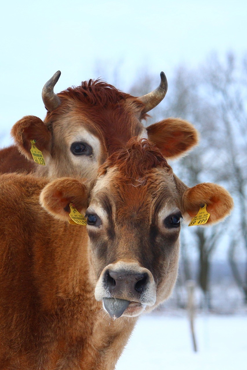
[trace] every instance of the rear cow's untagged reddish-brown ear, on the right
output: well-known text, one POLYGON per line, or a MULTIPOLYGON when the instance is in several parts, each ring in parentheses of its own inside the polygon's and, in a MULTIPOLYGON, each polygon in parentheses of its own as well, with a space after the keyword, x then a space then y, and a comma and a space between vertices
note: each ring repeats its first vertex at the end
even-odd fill
POLYGON ((148 138, 166 159, 181 157, 198 144, 194 126, 180 118, 167 118, 147 127, 148 138))

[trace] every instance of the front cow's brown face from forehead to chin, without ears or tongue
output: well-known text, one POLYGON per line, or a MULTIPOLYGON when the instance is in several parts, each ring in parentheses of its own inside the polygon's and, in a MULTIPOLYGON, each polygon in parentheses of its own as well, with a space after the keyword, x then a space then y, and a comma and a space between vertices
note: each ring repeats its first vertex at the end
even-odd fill
POLYGON ((138 176, 132 171, 123 176, 117 166, 108 169, 96 182, 86 211, 95 297, 131 302, 127 316, 164 301, 177 276, 180 199, 171 168, 160 163, 162 169, 138 176), (90 223, 93 216, 96 223, 90 223))

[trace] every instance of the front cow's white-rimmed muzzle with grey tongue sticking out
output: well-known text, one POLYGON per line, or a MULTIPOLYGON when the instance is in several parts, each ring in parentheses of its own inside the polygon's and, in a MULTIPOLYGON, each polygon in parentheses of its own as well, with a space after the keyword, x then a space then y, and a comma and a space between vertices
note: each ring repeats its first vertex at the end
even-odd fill
POLYGON ((152 273, 137 262, 112 263, 106 266, 95 287, 95 298, 115 319, 138 316, 156 301, 156 285, 152 273))

